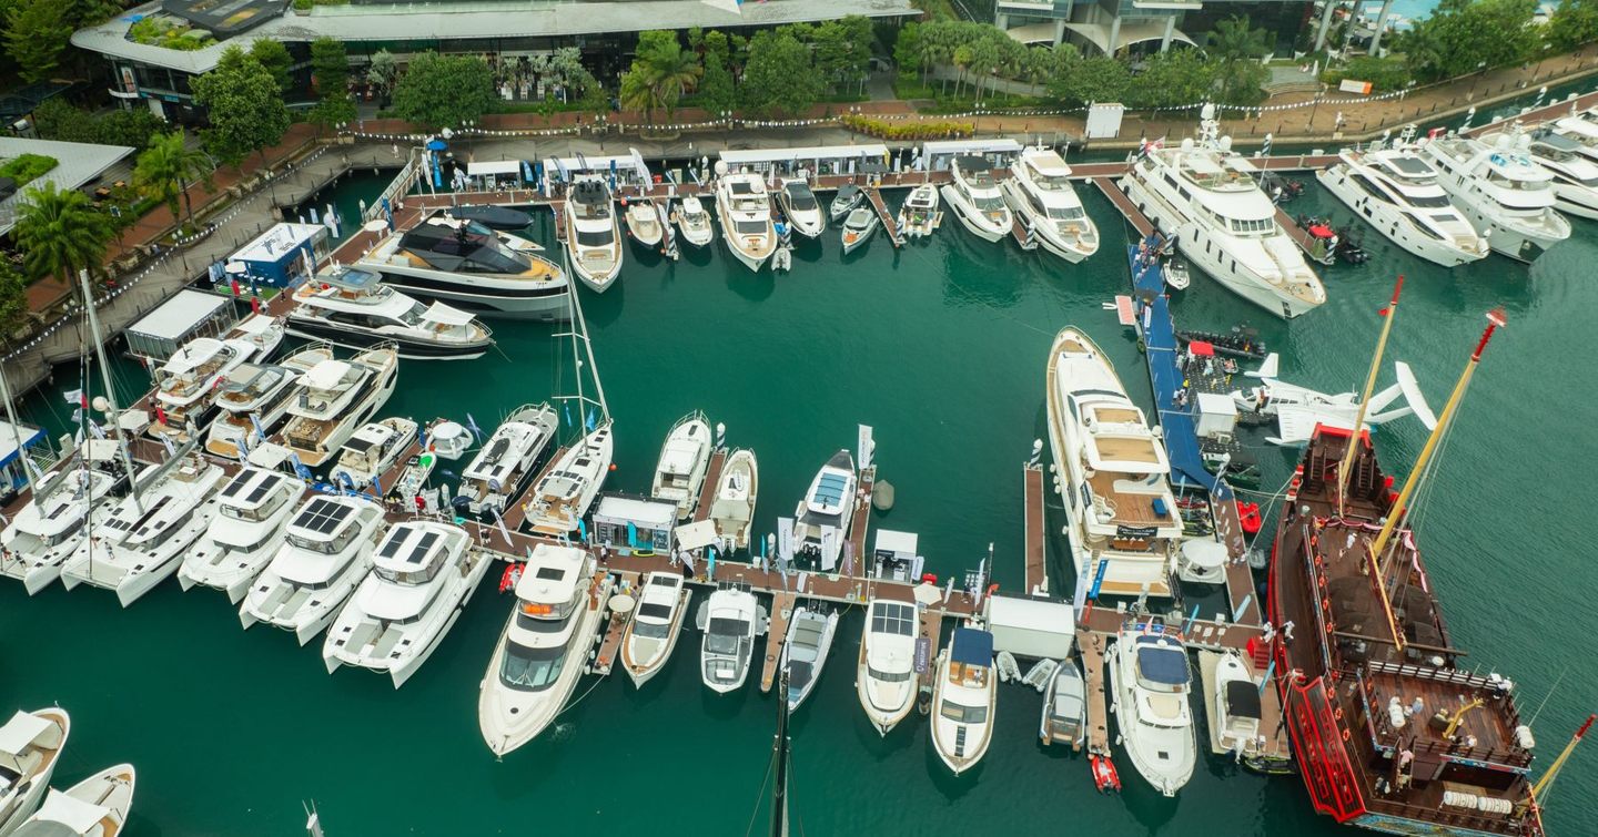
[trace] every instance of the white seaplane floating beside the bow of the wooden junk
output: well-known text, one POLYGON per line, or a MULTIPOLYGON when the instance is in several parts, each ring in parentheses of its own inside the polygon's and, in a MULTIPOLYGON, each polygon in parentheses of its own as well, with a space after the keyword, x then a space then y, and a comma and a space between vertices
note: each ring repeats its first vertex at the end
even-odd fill
MULTIPOLYGON (((1360 412, 1360 393, 1320 393, 1307 387, 1288 383, 1277 377, 1280 358, 1275 351, 1266 356, 1259 369, 1243 372, 1259 379, 1258 387, 1234 390, 1232 401, 1240 414, 1274 415, 1277 418, 1277 434, 1266 436, 1270 444, 1302 446, 1315 431, 1315 425, 1328 425, 1352 430, 1360 412)), ((1427 430, 1437 426, 1437 415, 1425 403, 1425 395, 1414 379, 1409 364, 1393 363, 1397 383, 1371 396, 1365 409, 1365 425, 1374 426, 1405 415, 1414 415, 1427 430), (1387 409, 1398 398, 1403 404, 1387 409)))

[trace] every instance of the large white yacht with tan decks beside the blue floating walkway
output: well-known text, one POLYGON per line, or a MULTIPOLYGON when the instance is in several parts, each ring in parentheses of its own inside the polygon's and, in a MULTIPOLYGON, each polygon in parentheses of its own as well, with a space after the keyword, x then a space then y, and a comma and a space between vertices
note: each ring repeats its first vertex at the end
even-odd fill
POLYGON ((1055 337, 1045 374, 1055 490, 1079 575, 1104 570, 1111 596, 1170 596, 1183 521, 1157 431, 1130 398, 1109 359, 1067 326, 1055 337))

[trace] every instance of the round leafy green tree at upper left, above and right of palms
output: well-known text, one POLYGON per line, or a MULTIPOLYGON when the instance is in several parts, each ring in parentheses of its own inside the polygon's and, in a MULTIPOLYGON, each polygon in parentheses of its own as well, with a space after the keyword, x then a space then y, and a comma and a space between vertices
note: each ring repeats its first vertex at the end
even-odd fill
MULTIPOLYGON (((259 42, 257 42, 259 43, 259 42)), ((217 158, 238 165, 249 152, 260 152, 283 139, 289 110, 272 72, 238 46, 229 46, 214 70, 195 78, 195 102, 209 109, 206 145, 217 158)))

